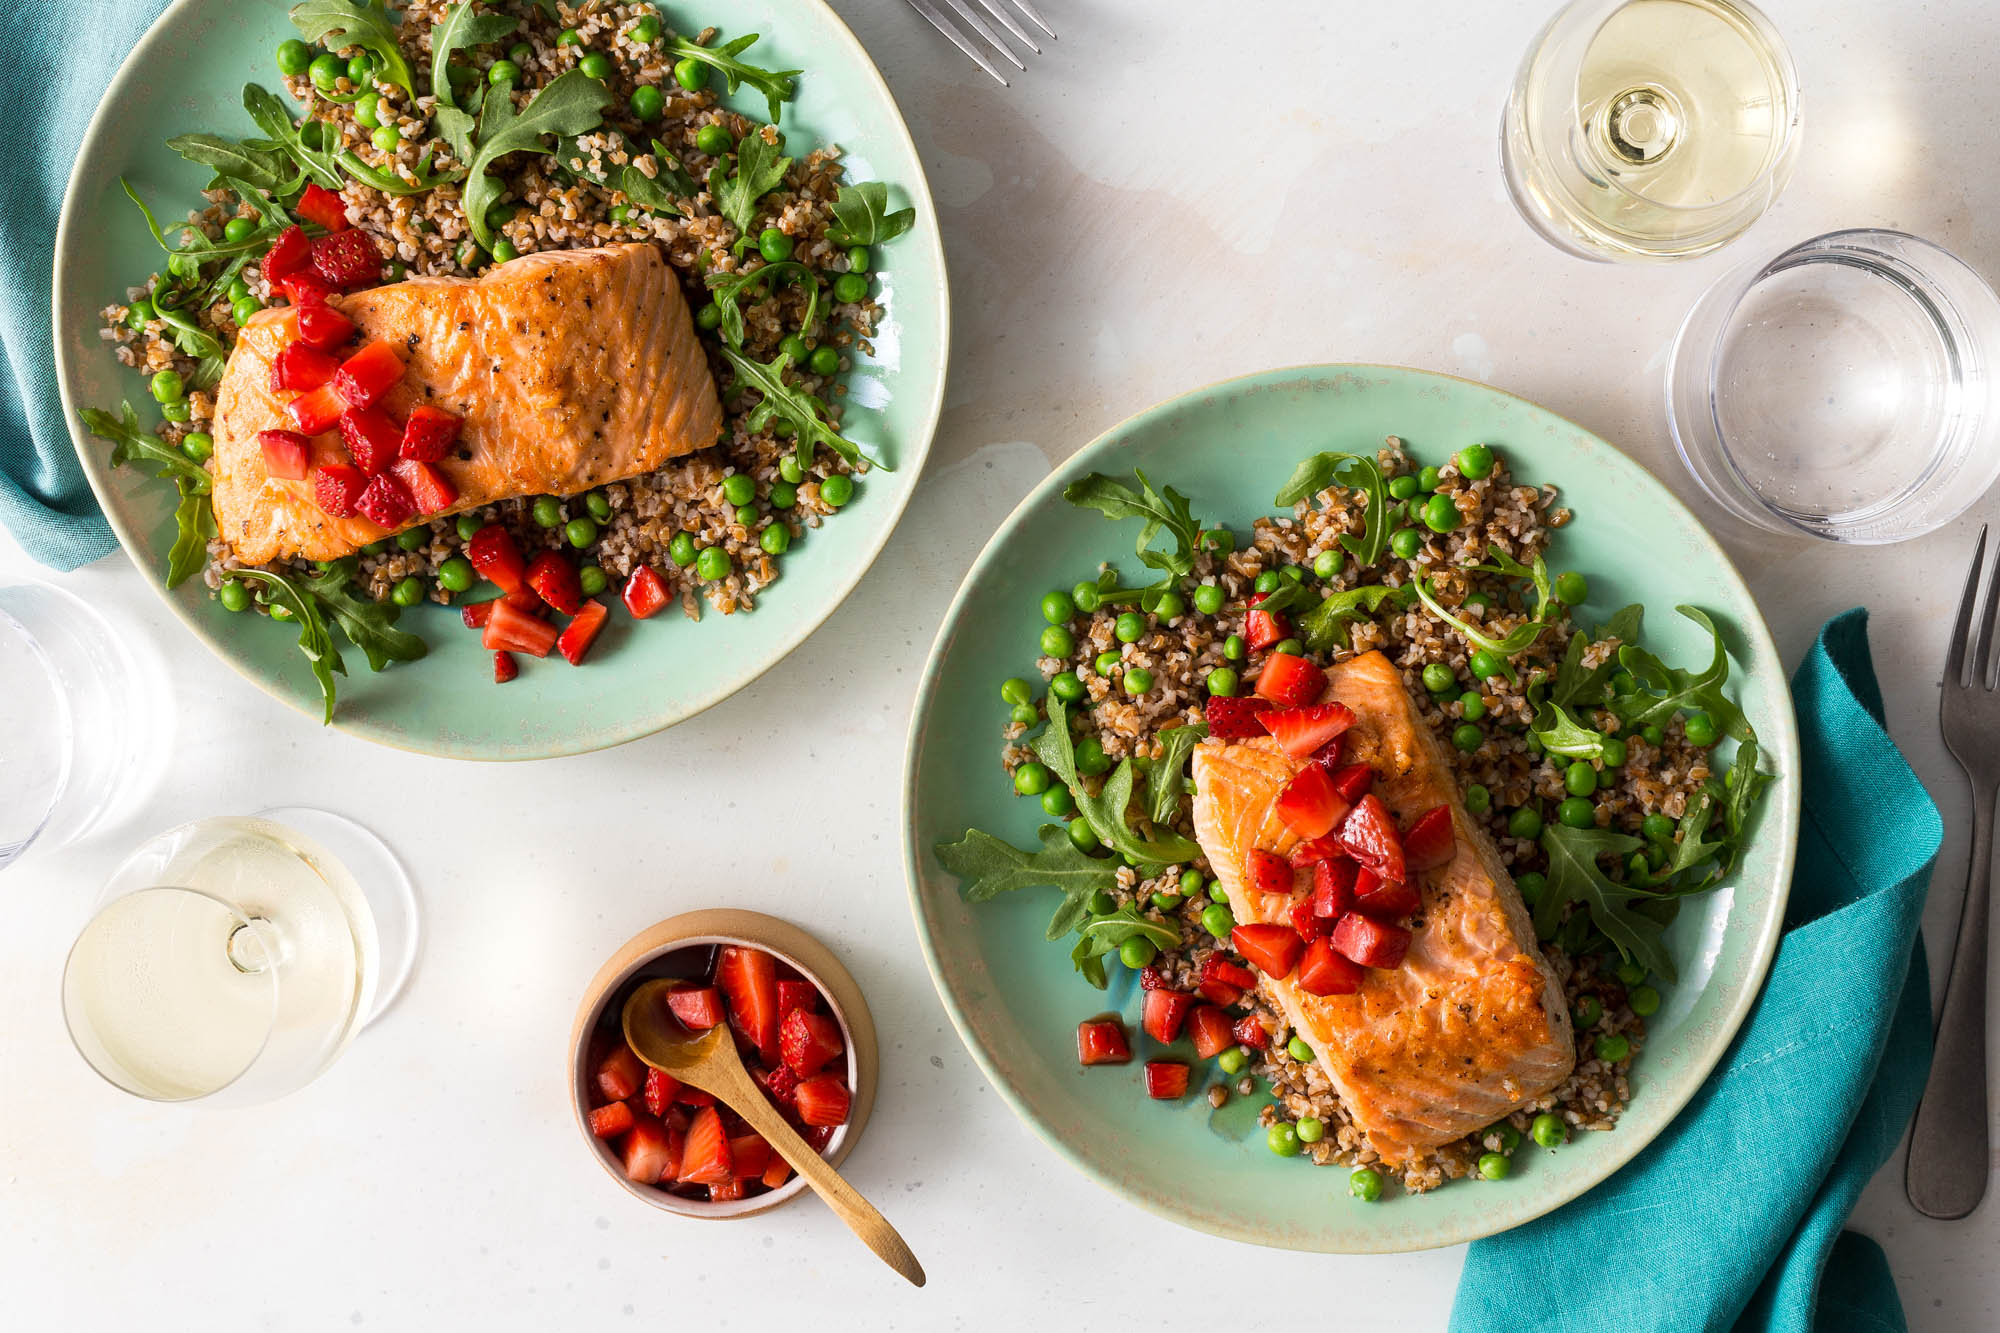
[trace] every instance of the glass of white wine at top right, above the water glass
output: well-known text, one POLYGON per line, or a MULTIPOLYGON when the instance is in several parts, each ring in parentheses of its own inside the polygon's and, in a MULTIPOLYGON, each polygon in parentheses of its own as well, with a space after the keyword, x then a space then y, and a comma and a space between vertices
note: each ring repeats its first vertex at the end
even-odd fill
POLYGON ((1598 260, 1708 254, 1778 196, 1798 76, 1740 0, 1576 0, 1528 50, 1500 158, 1522 216, 1598 260))

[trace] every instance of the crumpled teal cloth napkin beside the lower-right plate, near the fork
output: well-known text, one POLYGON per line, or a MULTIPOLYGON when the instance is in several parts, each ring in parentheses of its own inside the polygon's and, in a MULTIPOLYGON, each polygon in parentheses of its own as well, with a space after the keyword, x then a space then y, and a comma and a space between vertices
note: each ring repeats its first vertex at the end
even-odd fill
POLYGON ((1866 610, 1826 622, 1792 699, 1804 817, 1764 995, 1632 1165, 1472 1247, 1454 1333, 1906 1327, 1882 1249, 1842 1227, 1930 1071, 1918 923, 1942 825, 1882 729, 1866 610))

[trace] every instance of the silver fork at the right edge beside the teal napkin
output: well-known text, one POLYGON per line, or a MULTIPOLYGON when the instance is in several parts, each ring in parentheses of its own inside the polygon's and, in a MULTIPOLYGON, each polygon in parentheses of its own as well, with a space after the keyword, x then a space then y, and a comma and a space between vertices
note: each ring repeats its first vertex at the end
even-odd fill
POLYGON ((1938 723, 1944 749, 1972 781, 1972 865, 1958 917, 1952 977, 1932 1043, 1930 1081, 1910 1131, 1902 1187, 1924 1217, 1956 1219, 1986 1193, 1986 933, 1992 917, 1994 799, 2000 797, 2000 691, 1994 689, 1994 622, 2000 620, 2000 558, 1984 586, 1986 528, 1958 598, 1958 628, 1944 662, 1938 723), (1978 644, 1972 642, 1978 602, 1978 644))

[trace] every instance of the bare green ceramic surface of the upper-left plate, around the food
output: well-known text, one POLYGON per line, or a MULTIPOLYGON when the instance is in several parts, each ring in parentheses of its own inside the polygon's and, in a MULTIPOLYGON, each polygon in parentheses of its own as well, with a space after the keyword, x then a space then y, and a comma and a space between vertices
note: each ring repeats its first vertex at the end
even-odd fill
MULTIPOLYGON (((96 312, 124 300, 162 256, 124 176, 162 218, 180 216, 206 172, 164 146, 172 134, 212 130, 252 134, 242 86, 278 88, 272 50, 296 36, 286 0, 178 0, 132 50, 84 136, 62 228, 56 236, 56 368, 72 422, 82 406, 132 398, 152 412, 146 384, 98 340, 96 312)), ((700 713, 754 681, 798 646, 860 582, 902 514, 944 402, 950 346, 944 250, 938 216, 896 102, 854 34, 818 0, 732 0, 676 6, 686 20, 726 24, 728 34, 762 32, 754 56, 774 68, 802 68, 798 100, 784 126, 812 142, 838 142, 858 180, 888 180, 916 206, 916 226, 882 246, 878 292, 888 318, 876 354, 852 376, 854 434, 880 442, 896 470, 864 478, 852 504, 812 530, 784 562, 750 614, 678 614, 644 626, 612 616, 590 666, 530 664, 504 691, 488 689, 490 656, 458 614, 424 606, 404 626, 430 642, 412 666, 372 675, 346 652, 334 725, 368 741, 460 759, 542 759, 632 741, 700 713)), ((764 102, 732 98, 762 118, 764 102)), ((158 582, 172 544, 172 488, 106 466, 106 444, 72 426, 90 484, 124 548, 158 582)), ((314 723, 320 695, 296 634, 280 624, 232 616, 198 580, 164 592, 168 604, 210 648, 256 685, 298 707, 314 723)))

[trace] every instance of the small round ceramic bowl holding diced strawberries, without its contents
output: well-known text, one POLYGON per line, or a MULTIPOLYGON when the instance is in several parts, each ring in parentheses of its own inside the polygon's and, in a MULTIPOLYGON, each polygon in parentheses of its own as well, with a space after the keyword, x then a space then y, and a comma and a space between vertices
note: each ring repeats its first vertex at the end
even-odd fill
POLYGON ((840 1035, 846 1041, 846 1075, 848 1087, 854 1091, 848 1123, 834 1131, 824 1153, 828 1163, 840 1165, 868 1123, 868 1113, 874 1109, 876 1075, 880 1069, 874 1019, 868 1017, 868 1003, 862 999, 860 987, 854 985, 854 977, 848 975, 848 969, 840 965, 840 959, 826 945, 796 925, 762 913, 708 909, 672 917, 628 939, 598 969, 598 975, 584 989, 584 1003, 576 1009, 576 1025, 570 1029, 570 1107, 576 1113, 576 1129, 584 1135, 584 1143, 590 1145, 590 1153, 634 1199, 668 1213, 680 1213, 682 1217, 750 1217, 752 1213, 766 1213, 792 1201, 800 1191, 808 1189, 804 1177, 794 1173, 778 1189, 726 1203, 686 1199, 666 1189, 626 1179, 624 1161, 610 1143, 590 1133, 588 1123, 590 1081, 596 1075, 592 1049, 598 1045, 600 1033, 616 1037, 624 999, 632 983, 664 975, 656 965, 668 955, 710 949, 714 945, 762 949, 792 967, 826 997, 826 1007, 834 1021, 840 1023, 840 1035))

